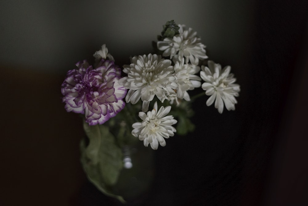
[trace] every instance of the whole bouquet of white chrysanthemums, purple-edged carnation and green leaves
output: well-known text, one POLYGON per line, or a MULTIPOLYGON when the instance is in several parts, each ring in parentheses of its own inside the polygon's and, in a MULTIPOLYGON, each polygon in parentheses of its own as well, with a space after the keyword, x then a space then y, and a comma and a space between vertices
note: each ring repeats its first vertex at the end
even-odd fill
MULTIPOLYGON (((192 28, 168 21, 153 49, 151 54, 132 57, 122 69, 104 44, 92 61, 80 61, 68 71, 61 87, 66 111, 79 113, 83 119, 87 137, 80 149, 87 178, 122 202, 136 195, 123 195, 123 190, 130 189, 121 186, 124 173, 138 165, 133 156, 145 158, 141 153, 145 150, 152 157, 150 150, 165 146, 165 139, 192 132, 194 99, 208 95, 206 105, 214 103, 222 113, 224 107, 235 109, 240 91, 230 66, 222 69, 213 61, 203 65, 208 58, 205 45, 192 28), (200 87, 200 94, 190 97, 188 92, 200 87), (141 144, 143 149, 136 151, 138 140, 145 147, 141 144)), ((148 176, 141 175, 141 182, 152 174, 151 167, 144 168, 149 171, 139 172, 148 176)), ((138 192, 147 187, 136 185, 138 192)))

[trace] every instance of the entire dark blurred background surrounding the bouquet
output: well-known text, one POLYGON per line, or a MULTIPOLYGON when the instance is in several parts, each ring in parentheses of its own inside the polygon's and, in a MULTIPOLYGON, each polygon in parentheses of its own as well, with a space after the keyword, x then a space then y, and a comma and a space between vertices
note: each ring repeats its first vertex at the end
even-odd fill
POLYGON ((223 114, 198 99, 195 132, 155 151, 151 191, 129 204, 308 204, 308 2, 2 0, 1 205, 117 204, 83 173, 60 86, 102 44, 118 65, 151 53, 172 19, 231 65, 240 97, 223 114))

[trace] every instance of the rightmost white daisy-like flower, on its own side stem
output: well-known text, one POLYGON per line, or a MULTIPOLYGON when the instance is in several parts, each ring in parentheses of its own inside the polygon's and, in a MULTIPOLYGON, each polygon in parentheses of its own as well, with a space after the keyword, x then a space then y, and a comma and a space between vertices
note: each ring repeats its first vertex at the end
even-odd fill
POLYGON ((231 67, 225 66, 221 70, 220 64, 215 64, 213 61, 208 61, 208 66, 201 66, 200 76, 205 81, 202 84, 202 89, 205 94, 209 95, 206 105, 210 106, 215 101, 215 108, 222 113, 224 103, 227 110, 235 110, 235 104, 240 91, 240 85, 235 84, 236 78, 230 74, 231 67))

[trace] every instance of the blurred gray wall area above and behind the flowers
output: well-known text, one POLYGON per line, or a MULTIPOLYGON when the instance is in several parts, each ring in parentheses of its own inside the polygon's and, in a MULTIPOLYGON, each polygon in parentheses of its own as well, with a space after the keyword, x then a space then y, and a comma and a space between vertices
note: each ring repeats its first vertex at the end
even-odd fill
POLYGON ((118 64, 152 52, 171 19, 192 27, 218 63, 240 64, 253 39, 253 1, 0 2, 0 64, 65 73, 102 44, 118 64))

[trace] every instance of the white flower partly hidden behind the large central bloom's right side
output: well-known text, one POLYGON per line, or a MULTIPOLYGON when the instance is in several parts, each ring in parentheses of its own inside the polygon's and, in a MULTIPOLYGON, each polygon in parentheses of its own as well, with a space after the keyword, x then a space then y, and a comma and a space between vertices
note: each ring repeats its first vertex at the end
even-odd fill
POLYGON ((195 74, 200 71, 199 66, 185 64, 183 61, 177 61, 174 65, 174 75, 177 78, 178 89, 176 90, 177 98, 190 101, 188 90, 193 90, 201 86, 201 78, 195 74))

